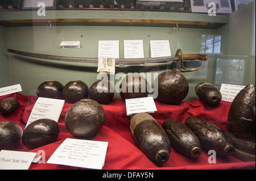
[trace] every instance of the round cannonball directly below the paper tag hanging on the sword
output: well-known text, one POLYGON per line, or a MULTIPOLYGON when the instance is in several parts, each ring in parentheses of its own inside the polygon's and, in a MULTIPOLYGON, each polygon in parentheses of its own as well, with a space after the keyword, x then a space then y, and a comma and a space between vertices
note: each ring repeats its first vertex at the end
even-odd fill
POLYGON ((114 98, 114 88, 108 81, 96 81, 90 86, 90 99, 100 104, 108 104, 114 98))

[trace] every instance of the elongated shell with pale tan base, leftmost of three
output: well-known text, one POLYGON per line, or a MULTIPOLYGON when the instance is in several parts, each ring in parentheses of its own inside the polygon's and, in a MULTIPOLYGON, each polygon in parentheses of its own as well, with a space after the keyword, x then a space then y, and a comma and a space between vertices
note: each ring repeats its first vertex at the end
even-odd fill
POLYGON ((154 163, 169 159, 171 145, 167 134, 148 113, 137 113, 130 120, 130 129, 138 148, 154 163))

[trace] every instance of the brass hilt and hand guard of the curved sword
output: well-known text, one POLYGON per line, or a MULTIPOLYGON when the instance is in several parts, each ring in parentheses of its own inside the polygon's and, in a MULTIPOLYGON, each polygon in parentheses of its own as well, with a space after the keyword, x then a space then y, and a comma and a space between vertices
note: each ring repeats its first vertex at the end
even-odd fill
POLYGON ((204 61, 206 61, 207 58, 208 58, 207 54, 183 54, 181 52, 181 49, 177 49, 175 56, 179 56, 180 57, 179 62, 176 62, 177 66, 179 66, 179 70, 174 68, 174 62, 175 61, 172 62, 171 66, 172 66, 173 70, 179 71, 179 72, 188 72, 188 71, 199 70, 199 69, 203 68, 204 61), (188 69, 183 64, 184 60, 201 60, 201 66, 199 66, 198 68, 188 69))

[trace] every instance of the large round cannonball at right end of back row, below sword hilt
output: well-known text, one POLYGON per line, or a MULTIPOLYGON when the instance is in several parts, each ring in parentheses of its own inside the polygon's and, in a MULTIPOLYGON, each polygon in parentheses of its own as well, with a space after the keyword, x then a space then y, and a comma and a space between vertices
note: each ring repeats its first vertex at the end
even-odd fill
POLYGON ((176 71, 165 71, 158 75, 158 100, 166 104, 179 105, 188 94, 188 81, 176 71))

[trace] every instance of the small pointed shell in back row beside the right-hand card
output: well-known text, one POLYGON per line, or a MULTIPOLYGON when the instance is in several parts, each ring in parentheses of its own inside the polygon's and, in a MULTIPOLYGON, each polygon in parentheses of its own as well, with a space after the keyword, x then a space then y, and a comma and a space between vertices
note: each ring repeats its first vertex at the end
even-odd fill
POLYGON ((218 88, 207 82, 199 83, 195 91, 199 99, 210 106, 217 106, 222 99, 221 92, 218 88))

